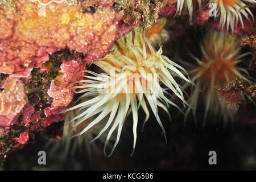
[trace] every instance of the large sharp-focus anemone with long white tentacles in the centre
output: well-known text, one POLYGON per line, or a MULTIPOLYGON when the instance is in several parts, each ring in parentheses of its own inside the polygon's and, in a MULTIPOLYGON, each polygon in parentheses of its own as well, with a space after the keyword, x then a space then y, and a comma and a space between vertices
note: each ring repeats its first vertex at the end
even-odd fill
POLYGON ((105 73, 98 74, 85 71, 88 73, 84 76, 85 80, 80 80, 81 85, 74 88, 80 89, 76 92, 81 94, 79 100, 82 98, 89 99, 67 110, 82 110, 69 121, 72 123, 72 129, 69 132, 71 138, 88 132, 94 125, 106 119, 106 125, 91 141, 93 142, 109 129, 104 146, 105 155, 108 141, 114 131, 117 131, 117 139, 109 156, 112 155, 129 113, 133 114, 134 152, 137 140, 138 109, 140 107, 146 113, 146 119, 144 119, 144 123, 146 123, 150 115, 147 104, 150 106, 166 138, 166 132, 158 115, 158 107, 162 107, 167 113, 168 105, 180 108, 165 94, 173 93, 183 101, 184 106, 188 105, 184 100, 181 86, 175 81, 176 78, 181 78, 181 80, 193 84, 188 75, 183 75, 186 73, 185 69, 162 55, 161 47, 156 51, 142 32, 144 30, 140 27, 133 29, 115 42, 113 50, 108 55, 92 62, 105 73), (79 133, 72 135, 77 126, 94 116, 95 119, 88 126, 79 133))

